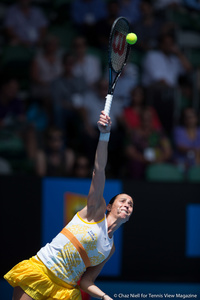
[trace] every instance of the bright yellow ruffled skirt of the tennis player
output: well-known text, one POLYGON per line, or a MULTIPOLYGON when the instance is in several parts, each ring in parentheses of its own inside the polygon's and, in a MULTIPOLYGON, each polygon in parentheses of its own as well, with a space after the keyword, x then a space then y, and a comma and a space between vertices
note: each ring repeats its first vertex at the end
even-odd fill
POLYGON ((35 257, 14 266, 4 278, 13 287, 20 286, 35 300, 81 300, 78 286, 73 287, 56 277, 35 257))

